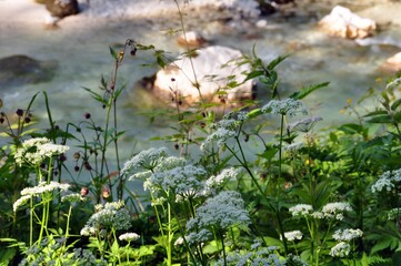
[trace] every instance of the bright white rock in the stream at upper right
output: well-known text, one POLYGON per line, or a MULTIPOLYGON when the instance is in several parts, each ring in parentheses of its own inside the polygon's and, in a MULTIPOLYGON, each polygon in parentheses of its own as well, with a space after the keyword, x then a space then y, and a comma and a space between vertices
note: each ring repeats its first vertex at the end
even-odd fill
POLYGON ((377 29, 373 20, 361 18, 341 6, 335 6, 330 14, 319 21, 319 25, 329 34, 347 39, 367 38, 377 29))

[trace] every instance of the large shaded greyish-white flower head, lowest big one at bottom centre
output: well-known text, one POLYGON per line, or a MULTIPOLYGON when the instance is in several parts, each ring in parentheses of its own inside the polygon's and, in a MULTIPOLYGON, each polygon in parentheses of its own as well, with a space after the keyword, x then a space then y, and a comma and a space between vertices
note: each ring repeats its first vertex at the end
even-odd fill
MULTIPOLYGON (((196 216, 187 222, 187 229, 202 228, 210 233, 210 228, 228 229, 234 225, 245 227, 249 223, 250 218, 241 194, 234 191, 223 191, 214 197, 208 198, 197 209, 196 216)), ((207 233, 203 232, 203 234, 207 233)))

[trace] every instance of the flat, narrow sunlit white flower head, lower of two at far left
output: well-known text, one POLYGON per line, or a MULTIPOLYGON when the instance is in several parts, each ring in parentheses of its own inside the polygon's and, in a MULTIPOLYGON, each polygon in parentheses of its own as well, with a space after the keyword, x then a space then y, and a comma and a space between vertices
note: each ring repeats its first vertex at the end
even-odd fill
POLYGON ((40 182, 39 185, 37 186, 23 188, 21 191, 21 197, 14 202, 12 208, 14 212, 17 212, 17 209, 21 205, 26 204, 29 200, 31 200, 34 196, 41 195, 43 193, 52 192, 56 190, 68 191, 68 188, 70 188, 70 184, 61 184, 54 181, 51 181, 49 184, 47 184, 46 182, 40 182))

